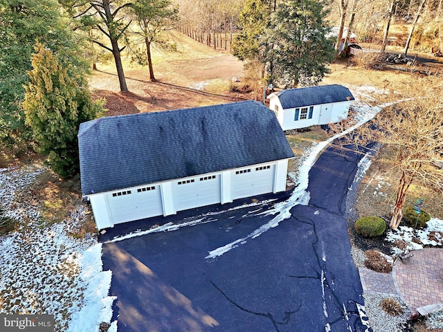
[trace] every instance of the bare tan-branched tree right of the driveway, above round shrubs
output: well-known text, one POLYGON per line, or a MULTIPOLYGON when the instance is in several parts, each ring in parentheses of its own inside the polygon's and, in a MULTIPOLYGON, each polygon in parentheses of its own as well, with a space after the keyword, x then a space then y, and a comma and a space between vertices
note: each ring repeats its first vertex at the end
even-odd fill
POLYGON ((356 147, 378 142, 383 158, 398 176, 390 228, 400 224, 411 184, 422 183, 443 192, 443 83, 425 77, 402 89, 403 101, 383 109, 348 136, 356 147))

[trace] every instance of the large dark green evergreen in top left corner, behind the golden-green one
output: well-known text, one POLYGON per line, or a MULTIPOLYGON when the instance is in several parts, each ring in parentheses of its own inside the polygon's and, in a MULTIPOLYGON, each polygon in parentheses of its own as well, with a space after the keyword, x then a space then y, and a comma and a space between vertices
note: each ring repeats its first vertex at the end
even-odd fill
POLYGON ((56 0, 0 0, 0 140, 10 145, 28 139, 19 104, 36 39, 51 46, 69 75, 82 76, 87 68, 81 42, 56 0))

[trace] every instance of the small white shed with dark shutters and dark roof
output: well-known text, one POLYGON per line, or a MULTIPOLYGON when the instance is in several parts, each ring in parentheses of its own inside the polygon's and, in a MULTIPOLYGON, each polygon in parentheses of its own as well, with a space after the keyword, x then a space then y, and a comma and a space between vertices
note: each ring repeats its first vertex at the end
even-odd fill
POLYGON ((345 86, 332 84, 278 91, 268 99, 282 129, 289 130, 345 120, 355 98, 345 86))

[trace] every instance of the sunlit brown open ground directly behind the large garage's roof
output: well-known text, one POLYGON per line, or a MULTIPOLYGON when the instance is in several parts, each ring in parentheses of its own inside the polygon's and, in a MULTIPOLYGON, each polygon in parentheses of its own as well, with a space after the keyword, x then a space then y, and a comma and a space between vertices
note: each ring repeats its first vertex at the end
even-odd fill
MULTIPOLYGON (((154 75, 149 79, 147 66, 125 62, 129 93, 120 92, 116 69, 112 64, 98 64, 89 85, 94 98, 106 98, 107 116, 183 109, 249 99, 248 95, 230 92, 242 76, 243 65, 226 52, 195 42, 177 33, 177 53, 155 52, 154 75), (223 91, 204 91, 212 81, 226 80, 223 91)), ((221 86, 221 84, 217 84, 221 86)))

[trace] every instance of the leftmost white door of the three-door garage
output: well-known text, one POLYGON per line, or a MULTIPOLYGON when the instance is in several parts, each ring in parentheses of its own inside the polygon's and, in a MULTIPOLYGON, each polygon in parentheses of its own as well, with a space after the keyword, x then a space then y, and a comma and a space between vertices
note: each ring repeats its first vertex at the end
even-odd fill
POLYGON ((114 223, 163 214, 159 185, 114 192, 109 194, 108 201, 114 223))

